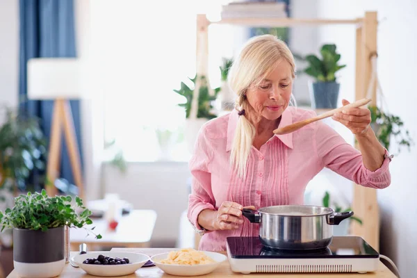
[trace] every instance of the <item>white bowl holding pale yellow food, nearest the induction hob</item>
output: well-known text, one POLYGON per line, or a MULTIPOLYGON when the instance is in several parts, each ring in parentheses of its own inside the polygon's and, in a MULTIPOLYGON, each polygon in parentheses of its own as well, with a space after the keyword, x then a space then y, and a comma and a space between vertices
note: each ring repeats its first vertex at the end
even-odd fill
POLYGON ((169 252, 154 255, 151 257, 151 261, 155 263, 158 268, 161 268, 165 273, 170 275, 177 276, 197 276, 197 275, 206 275, 210 272, 213 272, 220 263, 227 259, 227 256, 219 254, 216 252, 202 251, 204 254, 209 256, 215 261, 215 263, 207 263, 203 265, 170 265, 167 263, 161 263, 163 259, 168 258, 169 252))

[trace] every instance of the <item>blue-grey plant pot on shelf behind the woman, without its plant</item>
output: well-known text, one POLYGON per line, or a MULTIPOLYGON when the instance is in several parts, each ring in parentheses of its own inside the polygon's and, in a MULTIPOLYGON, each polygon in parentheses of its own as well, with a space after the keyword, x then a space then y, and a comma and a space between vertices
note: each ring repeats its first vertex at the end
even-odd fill
POLYGON ((313 109, 336 108, 340 87, 341 85, 336 82, 312 83, 310 95, 313 109))

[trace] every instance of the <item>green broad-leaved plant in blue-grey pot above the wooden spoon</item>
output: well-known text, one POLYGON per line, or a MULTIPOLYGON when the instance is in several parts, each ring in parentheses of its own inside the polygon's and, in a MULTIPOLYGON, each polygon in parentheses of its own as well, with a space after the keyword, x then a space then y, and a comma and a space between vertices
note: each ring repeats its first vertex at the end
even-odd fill
POLYGON ((340 84, 336 82, 336 72, 346 65, 340 65, 341 54, 336 52, 335 44, 324 44, 320 49, 322 59, 316 55, 307 55, 309 64, 304 70, 316 81, 310 85, 311 105, 313 108, 336 108, 340 84))

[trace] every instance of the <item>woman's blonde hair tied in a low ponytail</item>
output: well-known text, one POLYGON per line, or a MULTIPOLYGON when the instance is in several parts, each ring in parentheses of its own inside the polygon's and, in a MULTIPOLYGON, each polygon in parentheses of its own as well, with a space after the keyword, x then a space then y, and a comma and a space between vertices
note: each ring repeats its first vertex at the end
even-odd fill
MULTIPOLYGON (((248 111, 249 103, 245 95, 247 88, 250 85, 259 85, 282 59, 290 63, 295 78, 294 57, 285 42, 274 35, 259 35, 246 42, 234 59, 228 74, 229 87, 238 95, 235 104, 238 111, 248 111)), ((247 159, 255 133, 253 124, 245 115, 241 115, 230 154, 230 164, 237 170, 239 177, 246 173, 247 159)))

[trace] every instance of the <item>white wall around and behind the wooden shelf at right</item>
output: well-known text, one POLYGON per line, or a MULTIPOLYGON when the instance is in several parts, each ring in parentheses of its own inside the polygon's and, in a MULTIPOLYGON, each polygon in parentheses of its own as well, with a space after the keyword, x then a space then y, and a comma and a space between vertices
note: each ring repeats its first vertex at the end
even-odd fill
MULTIPOLYGON (((417 135, 417 2, 416 1, 335 1, 320 0, 318 15, 327 18, 362 17, 365 10, 378 12, 378 74, 389 104, 389 112, 404 120, 412 138, 417 135)), ((335 42, 345 63, 343 95, 354 95, 354 29, 327 27, 320 31, 319 42, 335 42)), ((393 146, 395 148, 395 145, 393 146)), ((378 191, 381 209, 380 252, 389 256, 400 268, 402 277, 414 277, 417 272, 417 147, 406 150, 390 165, 392 183, 378 191)))

